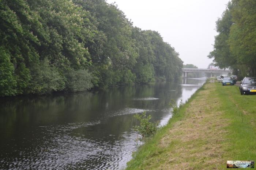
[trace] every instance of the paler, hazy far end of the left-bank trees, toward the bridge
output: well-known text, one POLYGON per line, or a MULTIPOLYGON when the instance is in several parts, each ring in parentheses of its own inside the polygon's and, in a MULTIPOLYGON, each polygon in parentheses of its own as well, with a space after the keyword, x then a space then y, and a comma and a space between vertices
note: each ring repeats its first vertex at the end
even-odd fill
POLYGON ((147 83, 154 76, 162 77, 167 81, 180 76, 182 61, 178 53, 155 31, 142 31, 133 28, 132 37, 136 41, 139 57, 134 67, 137 82, 147 83))

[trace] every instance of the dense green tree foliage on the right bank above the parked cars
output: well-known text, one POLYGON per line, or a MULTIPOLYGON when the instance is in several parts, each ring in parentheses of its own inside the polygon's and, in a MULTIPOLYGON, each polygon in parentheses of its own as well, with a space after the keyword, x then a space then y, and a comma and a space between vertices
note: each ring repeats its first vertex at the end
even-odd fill
POLYGON ((256 76, 256 1, 232 0, 216 22, 214 58, 217 66, 256 76))

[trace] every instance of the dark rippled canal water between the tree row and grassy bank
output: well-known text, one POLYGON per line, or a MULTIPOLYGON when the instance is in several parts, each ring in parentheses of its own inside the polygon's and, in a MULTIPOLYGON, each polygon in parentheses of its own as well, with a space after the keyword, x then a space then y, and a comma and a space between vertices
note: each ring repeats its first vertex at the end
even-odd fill
POLYGON ((124 169, 142 144, 133 115, 163 126, 205 80, 0 99, 0 169, 124 169))

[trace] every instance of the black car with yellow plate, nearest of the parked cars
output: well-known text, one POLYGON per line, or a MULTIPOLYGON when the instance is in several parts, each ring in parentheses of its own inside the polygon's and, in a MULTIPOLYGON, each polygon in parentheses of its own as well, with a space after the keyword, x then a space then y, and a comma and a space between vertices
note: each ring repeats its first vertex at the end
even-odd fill
POLYGON ((240 85, 240 93, 242 94, 256 94, 256 78, 245 77, 240 85))

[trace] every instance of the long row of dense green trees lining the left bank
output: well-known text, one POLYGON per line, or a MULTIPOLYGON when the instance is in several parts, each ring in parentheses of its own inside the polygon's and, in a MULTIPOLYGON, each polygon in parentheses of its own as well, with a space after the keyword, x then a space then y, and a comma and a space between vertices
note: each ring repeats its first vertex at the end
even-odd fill
POLYGON ((105 0, 1 0, 0 96, 180 76, 178 53, 105 0))

